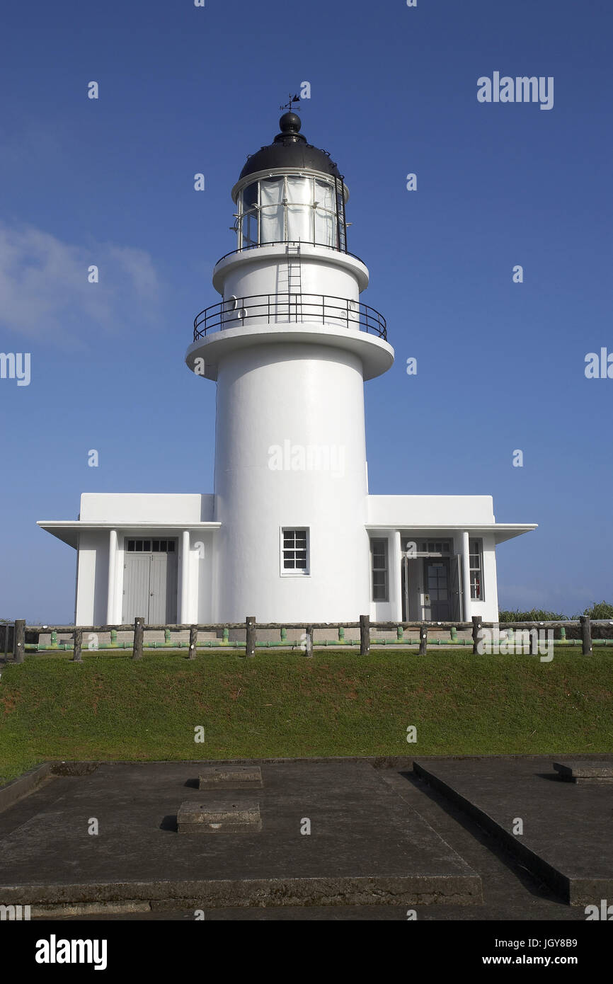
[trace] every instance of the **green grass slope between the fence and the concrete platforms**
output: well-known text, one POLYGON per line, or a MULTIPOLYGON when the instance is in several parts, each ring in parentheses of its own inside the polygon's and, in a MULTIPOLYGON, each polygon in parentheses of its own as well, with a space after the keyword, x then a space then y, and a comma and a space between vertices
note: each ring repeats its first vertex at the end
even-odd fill
POLYGON ((55 759, 613 751, 613 648, 44 652, 0 682, 0 782, 55 759), (407 725, 417 743, 407 744, 407 725), (203 725, 204 744, 194 741, 203 725))

